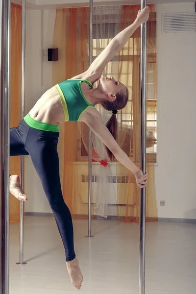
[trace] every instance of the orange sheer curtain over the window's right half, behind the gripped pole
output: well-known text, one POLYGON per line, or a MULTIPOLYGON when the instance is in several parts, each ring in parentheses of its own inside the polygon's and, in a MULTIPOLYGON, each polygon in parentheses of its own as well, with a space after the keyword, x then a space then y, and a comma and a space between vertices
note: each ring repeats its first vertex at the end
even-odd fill
MULTIPOLYGON (((157 221, 157 206, 154 189, 154 162, 156 162, 156 14, 154 5, 150 6, 147 24, 147 221, 157 221)), ((136 19, 140 5, 123 6, 121 28, 123 30, 136 19)), ((119 79, 129 89, 129 102, 121 111, 121 125, 127 131, 121 138, 123 149, 140 167, 140 57, 141 30, 129 39, 119 52, 119 79), (124 61, 124 56, 128 60, 124 61), (125 73, 128 73, 125 75, 125 73), (128 120, 128 122, 126 122, 128 120), (129 151, 128 151, 129 150, 129 151)), ((140 189, 133 174, 121 164, 117 164, 117 175, 124 176, 126 185, 119 182, 118 219, 126 222, 139 221, 140 189)))

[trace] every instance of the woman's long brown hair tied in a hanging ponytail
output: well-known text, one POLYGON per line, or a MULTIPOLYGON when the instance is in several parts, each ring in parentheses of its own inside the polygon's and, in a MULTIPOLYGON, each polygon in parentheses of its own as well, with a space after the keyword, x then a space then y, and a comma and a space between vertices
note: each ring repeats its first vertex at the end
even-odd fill
MULTIPOLYGON (((121 91, 118 94, 116 94, 116 99, 114 102, 106 101, 102 106, 108 111, 120 110, 126 106, 127 101, 128 89, 126 89, 125 92, 121 91)), ((114 139, 117 140, 118 121, 116 114, 112 114, 111 118, 106 123, 106 127, 108 128, 114 139)), ((108 149, 108 147, 106 147, 106 150, 109 159, 113 161, 115 158, 114 154, 110 151, 110 149, 108 149)))

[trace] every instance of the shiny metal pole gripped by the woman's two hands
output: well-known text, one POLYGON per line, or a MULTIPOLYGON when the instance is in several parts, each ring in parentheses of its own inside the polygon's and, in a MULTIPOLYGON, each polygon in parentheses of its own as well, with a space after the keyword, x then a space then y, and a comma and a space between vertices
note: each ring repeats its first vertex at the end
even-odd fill
MULTIPOLYGON (((147 0, 142 0, 142 10, 147 0)), ((146 173, 147 23, 141 26, 141 170, 146 173)), ((140 294, 145 294, 146 188, 140 192, 140 294)))

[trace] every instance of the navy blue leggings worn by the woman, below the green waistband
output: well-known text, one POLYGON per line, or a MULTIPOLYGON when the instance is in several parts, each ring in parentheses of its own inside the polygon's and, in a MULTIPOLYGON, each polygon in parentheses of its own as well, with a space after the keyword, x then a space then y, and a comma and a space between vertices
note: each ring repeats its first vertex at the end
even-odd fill
POLYGON ((10 156, 30 155, 56 220, 65 247, 66 261, 72 261, 75 258, 73 222, 61 190, 58 137, 58 132, 32 128, 23 120, 18 127, 10 129, 10 156))

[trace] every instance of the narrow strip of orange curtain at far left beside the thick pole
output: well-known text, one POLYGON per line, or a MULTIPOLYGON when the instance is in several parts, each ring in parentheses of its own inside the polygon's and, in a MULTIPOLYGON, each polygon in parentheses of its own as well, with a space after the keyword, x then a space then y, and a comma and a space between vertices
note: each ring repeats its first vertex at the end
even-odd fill
MULTIPOLYGON (((22 8, 11 3, 10 127, 21 121, 22 8)), ((20 157, 10 157, 10 173, 20 174, 20 157)), ((10 222, 19 221, 20 201, 10 195, 10 222)))

